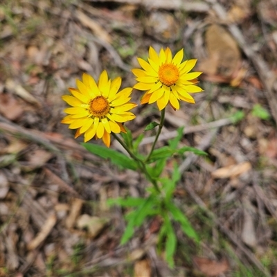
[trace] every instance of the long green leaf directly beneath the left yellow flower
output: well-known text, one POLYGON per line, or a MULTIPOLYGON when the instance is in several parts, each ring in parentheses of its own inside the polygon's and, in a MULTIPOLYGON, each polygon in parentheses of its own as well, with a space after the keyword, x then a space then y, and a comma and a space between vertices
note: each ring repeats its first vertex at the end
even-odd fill
POLYGON ((103 159, 109 159, 111 163, 114 163, 116 166, 122 166, 123 168, 131 170, 137 170, 138 168, 136 161, 125 156, 125 154, 117 152, 116 150, 93 143, 82 143, 82 145, 84 148, 89 150, 89 152, 96 154, 103 159))

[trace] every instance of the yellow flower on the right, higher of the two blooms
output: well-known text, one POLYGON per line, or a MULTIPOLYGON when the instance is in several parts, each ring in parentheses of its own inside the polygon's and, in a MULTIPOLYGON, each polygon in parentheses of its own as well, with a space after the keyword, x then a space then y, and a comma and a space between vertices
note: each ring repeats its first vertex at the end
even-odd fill
POLYGON ((152 104, 157 102, 161 111, 168 105, 173 109, 179 109, 179 100, 195 103, 195 100, 188 93, 203 91, 197 87, 197 77, 202 72, 191 72, 197 60, 186 60, 181 62, 184 57, 184 50, 181 49, 172 58, 170 48, 166 48, 158 55, 154 48, 149 48, 148 62, 138 58, 139 64, 143 69, 132 69, 136 75, 137 84, 134 89, 146 91, 141 99, 141 104, 152 104))

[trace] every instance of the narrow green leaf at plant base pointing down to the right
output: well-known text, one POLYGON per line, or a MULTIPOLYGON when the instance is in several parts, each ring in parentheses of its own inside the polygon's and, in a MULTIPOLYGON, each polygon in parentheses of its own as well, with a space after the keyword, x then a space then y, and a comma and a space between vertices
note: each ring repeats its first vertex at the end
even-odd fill
POLYGON ((177 208, 171 202, 167 203, 167 206, 170 213, 172 213, 174 220, 181 224, 181 229, 183 230, 183 232, 188 235, 189 238, 193 238, 195 242, 199 242, 199 237, 195 229, 193 229, 193 226, 191 226, 190 222, 188 221, 186 215, 184 215, 184 213, 182 213, 179 208, 177 208))

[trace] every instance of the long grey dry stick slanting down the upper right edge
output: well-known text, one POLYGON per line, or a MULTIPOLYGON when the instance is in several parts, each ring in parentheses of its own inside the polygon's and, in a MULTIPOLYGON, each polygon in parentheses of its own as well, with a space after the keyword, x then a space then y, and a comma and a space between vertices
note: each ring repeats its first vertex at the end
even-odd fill
MULTIPOLYGON (((217 3, 217 1, 214 0, 206 0, 206 2, 211 5, 220 19, 226 19, 227 13, 220 3, 217 3)), ((267 98, 271 114, 275 120, 275 123, 277 124, 277 98, 274 94, 274 83, 276 82, 276 75, 274 75, 274 73, 269 70, 269 67, 262 59, 262 56, 259 53, 254 52, 251 46, 247 44, 238 26, 230 24, 228 28, 230 33, 237 40, 239 46, 244 51, 245 55, 247 55, 249 60, 251 60, 252 64, 255 66, 260 80, 265 87, 265 96, 267 98)))

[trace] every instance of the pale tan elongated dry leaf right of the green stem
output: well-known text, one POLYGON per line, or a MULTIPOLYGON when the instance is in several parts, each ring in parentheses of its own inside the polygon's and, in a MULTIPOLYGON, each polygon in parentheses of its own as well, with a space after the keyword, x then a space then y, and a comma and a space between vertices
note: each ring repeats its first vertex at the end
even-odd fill
POLYGON ((249 161, 244 161, 237 165, 225 166, 224 168, 218 168, 211 173, 215 179, 233 178, 242 175, 243 173, 251 170, 252 166, 249 161))

